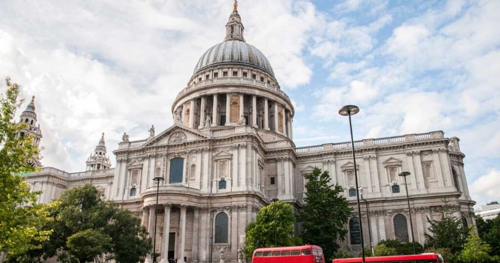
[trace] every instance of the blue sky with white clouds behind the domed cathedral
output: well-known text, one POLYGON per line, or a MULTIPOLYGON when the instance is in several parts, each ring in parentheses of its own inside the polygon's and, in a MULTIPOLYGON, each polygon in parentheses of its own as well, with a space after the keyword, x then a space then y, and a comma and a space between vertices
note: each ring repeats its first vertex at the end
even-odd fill
MULTIPOLYGON (((105 133, 146 138, 199 57, 222 42, 231 0, 2 1, 0 78, 35 95, 42 164, 69 172, 105 133)), ((297 146, 442 130, 460 138, 477 205, 500 199, 500 1, 240 0, 247 43, 295 107, 297 146)), ((6 89, 0 84, 0 92, 6 89)), ((20 111, 19 111, 20 114, 20 111)))

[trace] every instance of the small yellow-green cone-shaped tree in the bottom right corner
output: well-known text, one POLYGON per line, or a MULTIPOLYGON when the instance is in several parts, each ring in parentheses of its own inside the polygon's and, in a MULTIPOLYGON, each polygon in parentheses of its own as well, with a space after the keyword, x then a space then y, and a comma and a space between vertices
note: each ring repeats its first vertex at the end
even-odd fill
POLYGON ((469 226, 468 236, 460 252, 459 258, 466 263, 490 262, 491 247, 481 240, 473 226, 469 226))

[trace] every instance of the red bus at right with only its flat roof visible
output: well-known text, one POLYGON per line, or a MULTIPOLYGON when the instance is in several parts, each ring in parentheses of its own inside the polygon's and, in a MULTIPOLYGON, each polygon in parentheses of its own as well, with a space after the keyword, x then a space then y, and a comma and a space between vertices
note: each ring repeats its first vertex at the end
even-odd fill
MULTIPOLYGON (((332 263, 361 263, 361 257, 333 259, 332 263)), ((418 255, 391 255, 366 257, 370 263, 445 263, 440 254, 423 253, 418 255)))

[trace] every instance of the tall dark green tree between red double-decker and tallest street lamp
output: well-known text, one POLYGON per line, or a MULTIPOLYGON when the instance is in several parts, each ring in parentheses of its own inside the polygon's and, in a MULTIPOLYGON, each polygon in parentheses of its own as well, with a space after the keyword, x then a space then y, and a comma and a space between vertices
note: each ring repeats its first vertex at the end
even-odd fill
POLYGON ((352 209, 340 195, 342 187, 330 184, 328 171, 321 172, 316 167, 304 178, 307 180, 306 205, 298 216, 302 224, 301 237, 305 243, 321 246, 325 259, 329 261, 339 248, 335 240, 343 240, 347 234, 345 224, 352 209))

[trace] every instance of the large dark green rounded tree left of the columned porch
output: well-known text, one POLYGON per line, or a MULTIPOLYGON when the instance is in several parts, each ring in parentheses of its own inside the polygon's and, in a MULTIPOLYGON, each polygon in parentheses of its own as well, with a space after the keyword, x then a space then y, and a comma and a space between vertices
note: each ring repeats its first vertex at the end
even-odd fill
POLYGON ((53 232, 50 241, 41 242, 41 248, 29 251, 30 262, 52 256, 62 262, 103 259, 138 262, 143 261, 152 248, 140 219, 104 201, 102 194, 90 184, 66 190, 47 210, 51 220, 44 228, 53 232), (88 245, 77 247, 83 242, 88 245), (101 258, 103 254, 106 258, 101 258))

